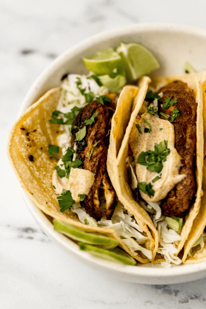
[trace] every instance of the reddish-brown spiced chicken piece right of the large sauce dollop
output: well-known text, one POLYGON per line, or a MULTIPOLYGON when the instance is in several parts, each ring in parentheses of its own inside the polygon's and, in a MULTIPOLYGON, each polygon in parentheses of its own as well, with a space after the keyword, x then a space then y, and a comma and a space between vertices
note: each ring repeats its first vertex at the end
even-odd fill
POLYGON ((175 132, 174 146, 181 156, 182 166, 179 174, 187 176, 167 194, 162 200, 161 208, 166 216, 182 217, 183 212, 187 210, 194 201, 196 192, 195 186, 195 151, 196 151, 196 111, 197 103, 195 102, 194 91, 188 88, 186 83, 174 81, 169 85, 161 88, 158 93, 163 93, 162 102, 167 98, 174 100, 174 105, 164 108, 164 104, 158 106, 158 113, 161 119, 168 119, 160 114, 173 115, 175 132), (174 109, 178 109, 178 112, 174 109), (173 112, 174 111, 174 112, 173 112), (176 114, 175 114, 176 112, 176 114))

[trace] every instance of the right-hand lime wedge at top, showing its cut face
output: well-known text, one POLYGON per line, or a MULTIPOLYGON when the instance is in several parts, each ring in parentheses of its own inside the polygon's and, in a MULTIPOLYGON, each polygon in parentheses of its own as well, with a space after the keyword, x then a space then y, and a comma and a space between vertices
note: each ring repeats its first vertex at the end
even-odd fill
POLYGON ((117 48, 128 82, 159 68, 159 63, 148 49, 138 43, 121 43, 117 48))

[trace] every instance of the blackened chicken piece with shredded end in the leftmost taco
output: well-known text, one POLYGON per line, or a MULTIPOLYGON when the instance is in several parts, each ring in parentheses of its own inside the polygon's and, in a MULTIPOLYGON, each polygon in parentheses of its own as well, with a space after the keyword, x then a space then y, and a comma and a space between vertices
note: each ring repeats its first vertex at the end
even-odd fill
POLYGON ((107 219, 111 218, 116 207, 116 192, 111 184, 106 169, 109 130, 111 128, 111 117, 115 112, 116 104, 113 100, 111 100, 111 102, 104 101, 103 104, 95 100, 87 104, 79 112, 73 122, 73 135, 71 139, 72 146, 74 147, 74 144, 77 146, 76 158, 83 162, 80 168, 89 170, 95 174, 95 181, 89 194, 80 203, 81 206, 85 208, 86 212, 97 221, 103 216, 99 201, 100 188, 104 190, 107 219), (94 121, 86 125, 88 122, 85 123, 85 121, 89 120, 92 116, 94 121), (80 141, 75 141, 76 132, 85 126, 85 137, 80 141))

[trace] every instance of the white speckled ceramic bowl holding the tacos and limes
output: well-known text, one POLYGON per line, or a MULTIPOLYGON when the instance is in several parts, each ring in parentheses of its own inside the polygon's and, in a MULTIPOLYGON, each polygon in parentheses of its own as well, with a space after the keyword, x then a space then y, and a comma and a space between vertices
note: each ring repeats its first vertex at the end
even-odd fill
MULTIPOLYGON (((36 80, 23 101, 19 115, 47 90, 59 86, 65 73, 86 73, 82 63, 84 56, 108 47, 117 47, 120 41, 139 42, 153 53, 160 63, 160 69, 151 76, 183 74, 185 61, 191 63, 198 72, 206 70, 206 30, 174 24, 135 24, 92 36, 63 53, 36 80)), ((33 217, 48 237, 91 267, 121 280, 144 284, 180 283, 206 277, 206 262, 166 269, 151 264, 120 265, 90 256, 87 252, 80 251, 78 245, 67 237, 54 231, 51 222, 22 188, 21 192, 33 217)))

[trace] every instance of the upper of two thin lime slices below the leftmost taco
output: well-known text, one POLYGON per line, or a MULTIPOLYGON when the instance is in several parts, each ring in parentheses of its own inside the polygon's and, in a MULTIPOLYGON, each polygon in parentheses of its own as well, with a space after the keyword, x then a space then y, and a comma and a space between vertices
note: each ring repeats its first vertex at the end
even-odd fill
POLYGON ((88 233, 77 229, 69 223, 63 223, 53 219, 54 230, 83 243, 99 245, 102 248, 110 249, 118 246, 119 241, 100 234, 88 233))

